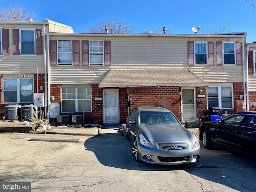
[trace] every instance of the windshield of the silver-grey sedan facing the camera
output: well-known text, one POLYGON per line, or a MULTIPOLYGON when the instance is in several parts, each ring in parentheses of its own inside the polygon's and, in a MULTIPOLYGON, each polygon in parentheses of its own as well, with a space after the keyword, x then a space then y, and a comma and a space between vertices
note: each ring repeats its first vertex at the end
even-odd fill
POLYGON ((140 124, 179 125, 178 120, 170 112, 142 111, 139 120, 140 124))

